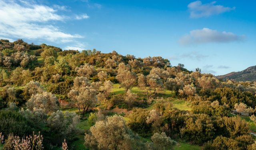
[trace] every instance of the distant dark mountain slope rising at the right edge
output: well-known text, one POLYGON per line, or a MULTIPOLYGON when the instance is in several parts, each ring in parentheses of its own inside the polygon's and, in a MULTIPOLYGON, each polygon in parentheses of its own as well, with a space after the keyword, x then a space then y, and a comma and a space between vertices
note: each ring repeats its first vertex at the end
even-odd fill
POLYGON ((230 72, 222 76, 216 76, 219 79, 230 79, 236 81, 256 81, 256 66, 251 66, 240 72, 230 72))

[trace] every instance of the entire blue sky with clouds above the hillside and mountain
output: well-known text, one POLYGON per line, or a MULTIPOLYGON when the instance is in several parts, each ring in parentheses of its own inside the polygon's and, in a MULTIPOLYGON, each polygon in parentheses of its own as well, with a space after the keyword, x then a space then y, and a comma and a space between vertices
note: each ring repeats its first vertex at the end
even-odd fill
POLYGON ((255 0, 0 0, 0 39, 162 56, 214 75, 256 65, 255 0))

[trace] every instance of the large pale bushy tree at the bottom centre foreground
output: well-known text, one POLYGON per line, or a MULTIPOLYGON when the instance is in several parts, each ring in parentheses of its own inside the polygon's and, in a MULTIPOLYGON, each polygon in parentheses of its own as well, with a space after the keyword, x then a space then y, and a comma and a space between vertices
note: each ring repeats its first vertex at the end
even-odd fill
POLYGON ((98 121, 84 136, 85 145, 93 149, 137 150, 140 140, 126 126, 122 116, 110 116, 105 121, 98 121))

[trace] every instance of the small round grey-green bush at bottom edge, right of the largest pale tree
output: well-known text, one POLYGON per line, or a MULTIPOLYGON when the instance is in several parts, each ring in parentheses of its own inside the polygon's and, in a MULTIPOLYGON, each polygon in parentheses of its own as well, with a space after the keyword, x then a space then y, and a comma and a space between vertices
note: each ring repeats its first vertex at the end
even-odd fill
POLYGON ((158 150, 171 150, 173 149, 173 146, 176 145, 176 142, 170 137, 166 136, 164 132, 161 134, 155 133, 151 137, 151 140, 154 143, 154 147, 158 150))

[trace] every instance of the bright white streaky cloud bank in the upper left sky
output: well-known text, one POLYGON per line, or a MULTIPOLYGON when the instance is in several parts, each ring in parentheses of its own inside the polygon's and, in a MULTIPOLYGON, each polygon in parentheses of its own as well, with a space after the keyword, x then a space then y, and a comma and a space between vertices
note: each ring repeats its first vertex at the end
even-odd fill
POLYGON ((58 15, 53 8, 26 1, 0 1, 0 36, 48 41, 82 38, 78 34, 62 32, 50 21, 64 21, 66 16, 58 15))

